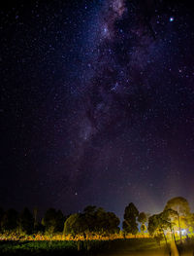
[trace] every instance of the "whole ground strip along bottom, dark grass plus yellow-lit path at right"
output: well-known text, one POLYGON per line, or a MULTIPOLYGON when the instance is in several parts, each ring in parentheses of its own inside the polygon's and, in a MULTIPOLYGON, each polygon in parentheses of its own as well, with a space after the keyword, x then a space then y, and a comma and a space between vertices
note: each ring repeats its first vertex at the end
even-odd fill
POLYGON ((2 240, 0 255, 69 255, 69 256, 157 256, 194 255, 194 239, 178 246, 169 241, 160 245, 154 238, 114 240, 2 240), (171 251, 171 254, 170 254, 171 251))

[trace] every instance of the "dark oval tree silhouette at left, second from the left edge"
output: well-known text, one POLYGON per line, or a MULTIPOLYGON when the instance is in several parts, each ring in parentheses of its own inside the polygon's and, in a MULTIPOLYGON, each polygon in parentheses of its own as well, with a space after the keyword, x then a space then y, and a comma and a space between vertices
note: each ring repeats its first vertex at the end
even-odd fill
POLYGON ((20 233, 32 234, 34 218, 28 208, 24 208, 18 217, 18 227, 20 233))

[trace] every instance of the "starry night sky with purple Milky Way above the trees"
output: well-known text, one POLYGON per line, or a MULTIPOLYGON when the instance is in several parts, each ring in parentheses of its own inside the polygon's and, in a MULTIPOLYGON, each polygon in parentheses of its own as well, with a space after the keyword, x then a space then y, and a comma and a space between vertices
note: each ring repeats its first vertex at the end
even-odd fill
POLYGON ((189 1, 0 5, 0 204, 194 206, 189 1))

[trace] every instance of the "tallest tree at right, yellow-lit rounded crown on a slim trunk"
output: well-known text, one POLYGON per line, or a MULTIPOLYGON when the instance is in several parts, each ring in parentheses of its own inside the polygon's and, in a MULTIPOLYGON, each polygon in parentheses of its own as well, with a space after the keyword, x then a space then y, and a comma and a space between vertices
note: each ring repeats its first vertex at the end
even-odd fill
POLYGON ((170 201, 167 201, 167 204, 164 210, 168 210, 168 209, 172 209, 177 212, 179 238, 181 241, 181 218, 185 219, 189 217, 189 214, 190 214, 189 203, 187 200, 181 197, 173 198, 170 201))

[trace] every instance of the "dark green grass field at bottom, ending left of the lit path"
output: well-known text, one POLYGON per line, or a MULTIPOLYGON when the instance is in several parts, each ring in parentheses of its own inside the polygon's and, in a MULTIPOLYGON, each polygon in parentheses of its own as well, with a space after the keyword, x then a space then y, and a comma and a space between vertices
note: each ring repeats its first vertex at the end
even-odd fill
POLYGON ((164 250, 164 243, 159 247, 152 238, 84 242, 0 241, 0 255, 157 255, 164 250))

